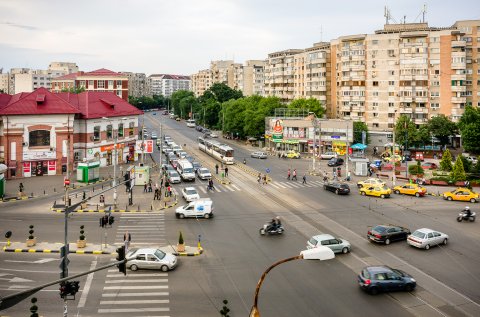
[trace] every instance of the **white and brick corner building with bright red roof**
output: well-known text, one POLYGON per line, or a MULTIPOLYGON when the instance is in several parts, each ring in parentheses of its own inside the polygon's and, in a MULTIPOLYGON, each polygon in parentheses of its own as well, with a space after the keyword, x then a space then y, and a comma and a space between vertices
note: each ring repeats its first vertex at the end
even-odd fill
POLYGON ((18 178, 61 174, 67 162, 69 171, 90 159, 111 165, 115 152, 117 162, 136 159, 141 114, 109 92, 0 94, 0 163, 18 178))

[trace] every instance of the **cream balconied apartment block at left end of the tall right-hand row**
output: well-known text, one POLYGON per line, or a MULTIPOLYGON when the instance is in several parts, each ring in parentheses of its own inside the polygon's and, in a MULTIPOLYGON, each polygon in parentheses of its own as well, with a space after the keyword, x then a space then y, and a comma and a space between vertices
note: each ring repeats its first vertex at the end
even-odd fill
POLYGON ((282 102, 295 98, 295 56, 303 50, 289 49, 268 54, 265 65, 265 96, 275 96, 282 102))

